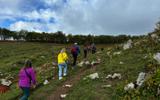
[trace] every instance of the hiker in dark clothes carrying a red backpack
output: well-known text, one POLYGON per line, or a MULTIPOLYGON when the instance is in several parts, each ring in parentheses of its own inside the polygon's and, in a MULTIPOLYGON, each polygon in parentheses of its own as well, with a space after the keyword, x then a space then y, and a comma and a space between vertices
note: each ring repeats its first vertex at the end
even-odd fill
POLYGON ((80 47, 78 46, 77 43, 74 43, 74 45, 71 47, 71 54, 73 56, 73 66, 76 66, 76 62, 77 62, 77 57, 80 53, 80 47))

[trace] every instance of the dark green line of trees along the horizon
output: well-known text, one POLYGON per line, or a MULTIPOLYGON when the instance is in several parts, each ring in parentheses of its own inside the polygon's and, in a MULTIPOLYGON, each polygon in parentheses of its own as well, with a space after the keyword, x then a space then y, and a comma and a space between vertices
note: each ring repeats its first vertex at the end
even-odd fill
MULTIPOLYGON (((142 37, 142 36, 141 36, 142 37)), ((46 32, 29 32, 27 30, 21 31, 10 31, 6 28, 0 28, 0 40, 14 41, 27 41, 27 42, 51 42, 51 43, 74 43, 79 44, 84 43, 96 43, 96 44, 113 44, 113 43, 124 43, 128 39, 141 38, 140 36, 130 36, 130 35, 65 35, 62 31, 55 33, 46 32)))

